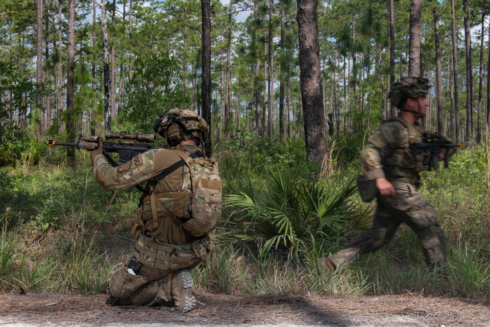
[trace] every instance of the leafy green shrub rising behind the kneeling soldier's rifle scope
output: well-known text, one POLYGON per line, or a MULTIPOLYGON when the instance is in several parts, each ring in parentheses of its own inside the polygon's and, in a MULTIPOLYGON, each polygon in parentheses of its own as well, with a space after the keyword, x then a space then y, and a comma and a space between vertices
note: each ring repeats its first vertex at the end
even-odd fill
POLYGON ((162 52, 147 59, 137 58, 133 69, 132 78, 125 84, 123 119, 151 133, 159 114, 189 103, 180 65, 175 57, 162 52))

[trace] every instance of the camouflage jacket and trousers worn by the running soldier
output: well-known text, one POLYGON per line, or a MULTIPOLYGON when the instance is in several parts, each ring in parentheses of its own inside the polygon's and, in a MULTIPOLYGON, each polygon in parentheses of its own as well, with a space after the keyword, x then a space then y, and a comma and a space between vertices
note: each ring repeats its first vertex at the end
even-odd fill
POLYGON ((388 244, 401 223, 410 226, 420 238, 425 261, 441 266, 446 263, 446 241, 434 208, 417 192, 418 172, 426 153, 412 157, 410 143, 422 142, 435 134, 412 125, 402 116, 382 124, 361 152, 362 167, 368 179, 386 177, 396 196, 377 196, 377 208, 370 229, 331 255, 325 266, 333 269, 352 265, 361 254, 374 252, 388 244))

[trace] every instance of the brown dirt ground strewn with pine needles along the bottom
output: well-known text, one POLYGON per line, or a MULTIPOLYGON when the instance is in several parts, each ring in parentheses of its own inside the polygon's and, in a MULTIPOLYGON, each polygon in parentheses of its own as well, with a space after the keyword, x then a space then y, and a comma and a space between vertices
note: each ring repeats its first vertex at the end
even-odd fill
POLYGON ((229 296, 202 290, 196 299, 195 310, 178 315, 168 307, 109 306, 104 295, 0 294, 0 326, 490 327, 490 299, 229 296))

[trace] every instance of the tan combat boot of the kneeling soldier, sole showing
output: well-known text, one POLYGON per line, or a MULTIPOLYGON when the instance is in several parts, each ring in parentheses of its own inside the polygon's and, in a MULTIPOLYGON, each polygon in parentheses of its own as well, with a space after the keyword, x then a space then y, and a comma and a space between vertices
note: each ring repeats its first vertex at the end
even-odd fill
POLYGON ((196 306, 196 298, 191 291, 194 282, 189 269, 180 269, 172 273, 172 298, 174 307, 172 312, 186 313, 194 309, 196 306))

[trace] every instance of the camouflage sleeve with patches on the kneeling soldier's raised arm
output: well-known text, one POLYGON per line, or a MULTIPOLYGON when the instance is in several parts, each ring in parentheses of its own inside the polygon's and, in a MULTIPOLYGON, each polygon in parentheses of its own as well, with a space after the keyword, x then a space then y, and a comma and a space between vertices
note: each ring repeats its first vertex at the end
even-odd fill
POLYGON ((94 178, 106 189, 116 190, 140 184, 157 176, 180 157, 171 150, 154 149, 141 153, 119 167, 112 167, 102 154, 94 160, 94 178))

